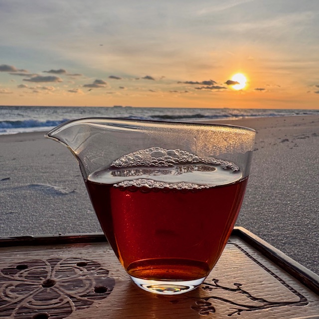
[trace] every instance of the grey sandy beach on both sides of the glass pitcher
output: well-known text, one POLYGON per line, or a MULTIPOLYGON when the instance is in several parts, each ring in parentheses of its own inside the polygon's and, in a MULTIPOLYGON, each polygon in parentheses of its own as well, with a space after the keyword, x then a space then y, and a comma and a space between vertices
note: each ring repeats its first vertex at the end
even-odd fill
MULTIPOLYGON (((236 225, 319 274, 319 116, 218 123, 257 131, 236 225)), ((0 164, 0 236, 101 231, 67 148, 41 132, 2 135, 0 164)))

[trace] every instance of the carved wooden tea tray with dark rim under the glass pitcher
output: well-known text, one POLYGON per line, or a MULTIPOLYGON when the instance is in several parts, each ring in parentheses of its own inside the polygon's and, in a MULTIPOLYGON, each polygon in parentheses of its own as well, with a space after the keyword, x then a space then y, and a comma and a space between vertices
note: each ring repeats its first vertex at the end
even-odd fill
POLYGON ((102 234, 0 238, 4 318, 319 318, 319 276, 241 227, 205 282, 177 296, 137 288, 102 234))

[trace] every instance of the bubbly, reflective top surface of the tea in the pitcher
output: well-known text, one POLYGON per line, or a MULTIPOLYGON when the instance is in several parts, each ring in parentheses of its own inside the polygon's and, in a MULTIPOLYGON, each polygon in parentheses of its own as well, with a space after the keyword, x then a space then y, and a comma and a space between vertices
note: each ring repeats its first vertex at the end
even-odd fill
POLYGON ((187 151, 154 147, 125 155, 92 173, 92 182, 115 187, 201 189, 226 185, 242 178, 239 167, 227 160, 200 158, 187 151))

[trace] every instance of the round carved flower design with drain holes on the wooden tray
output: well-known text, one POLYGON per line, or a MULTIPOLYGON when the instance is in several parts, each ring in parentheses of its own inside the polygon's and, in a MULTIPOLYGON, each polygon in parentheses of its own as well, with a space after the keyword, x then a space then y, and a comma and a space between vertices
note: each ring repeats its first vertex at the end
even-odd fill
POLYGON ((29 260, 0 271, 0 318, 62 319, 106 298, 115 286, 92 260, 29 260))

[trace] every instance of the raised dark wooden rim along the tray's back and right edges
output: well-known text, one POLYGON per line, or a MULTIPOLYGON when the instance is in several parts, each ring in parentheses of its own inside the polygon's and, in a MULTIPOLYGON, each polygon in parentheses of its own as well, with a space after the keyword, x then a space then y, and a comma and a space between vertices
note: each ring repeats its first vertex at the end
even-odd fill
MULTIPOLYGON (((292 258, 285 255, 279 249, 268 244, 243 227, 235 227, 232 236, 238 236, 246 243, 259 251, 266 258, 281 267, 288 274, 292 275, 303 285, 319 295, 319 276, 302 266, 292 258)), ((46 236, 17 236, 0 237, 0 247, 10 246, 37 246, 37 245, 59 245, 75 243, 96 243, 106 242, 103 233, 94 234, 68 234, 68 235, 46 235, 46 236)))

